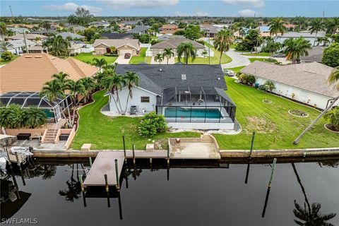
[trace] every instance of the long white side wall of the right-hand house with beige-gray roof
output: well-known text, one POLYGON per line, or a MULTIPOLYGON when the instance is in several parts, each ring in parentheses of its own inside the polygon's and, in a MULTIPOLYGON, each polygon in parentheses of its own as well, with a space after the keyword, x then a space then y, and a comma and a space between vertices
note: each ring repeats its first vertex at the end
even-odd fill
MULTIPOLYGON (((267 80, 264 78, 256 78, 256 83, 259 85, 263 85, 267 80)), ((297 100, 299 102, 303 102, 307 105, 319 107, 321 109, 325 109, 326 105, 328 103, 328 100, 331 100, 333 98, 326 97, 317 93, 312 93, 306 90, 302 90, 299 88, 292 87, 290 85, 285 85, 282 83, 274 82, 275 89, 273 90, 273 93, 283 95, 285 97, 289 97, 291 99, 297 100), (292 93, 295 94, 294 98, 292 98, 292 93)), ((339 105, 339 101, 336 103, 336 105, 339 105)))

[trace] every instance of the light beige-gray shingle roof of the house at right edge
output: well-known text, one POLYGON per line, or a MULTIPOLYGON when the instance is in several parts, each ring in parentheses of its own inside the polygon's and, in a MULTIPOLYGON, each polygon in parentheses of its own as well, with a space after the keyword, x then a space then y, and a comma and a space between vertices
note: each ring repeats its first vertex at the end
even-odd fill
POLYGON ((280 66, 254 61, 254 63, 242 69, 242 73, 248 73, 327 97, 337 97, 339 91, 335 89, 335 85, 326 83, 332 70, 331 66, 317 62, 280 66))

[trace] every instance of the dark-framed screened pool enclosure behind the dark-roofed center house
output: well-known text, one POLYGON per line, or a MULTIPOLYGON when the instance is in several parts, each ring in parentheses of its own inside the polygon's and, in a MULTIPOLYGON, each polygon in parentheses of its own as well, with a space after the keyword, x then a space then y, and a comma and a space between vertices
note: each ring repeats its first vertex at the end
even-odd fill
POLYGON ((234 123, 236 108, 225 91, 215 87, 176 86, 157 97, 157 114, 167 122, 234 123))

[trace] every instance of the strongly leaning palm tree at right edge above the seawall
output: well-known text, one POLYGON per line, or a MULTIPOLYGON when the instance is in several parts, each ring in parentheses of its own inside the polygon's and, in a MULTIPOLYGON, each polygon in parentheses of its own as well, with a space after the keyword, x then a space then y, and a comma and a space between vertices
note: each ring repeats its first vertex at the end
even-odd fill
MULTIPOLYGON (((328 76, 327 81, 329 84, 334 84, 339 81, 339 66, 337 66, 336 68, 332 70, 330 76, 328 76)), ((339 82, 335 85, 335 88, 339 90, 339 82)), ((328 107, 326 107, 326 109, 324 109, 323 112, 321 112, 321 114, 319 114, 319 116, 316 117, 316 119, 314 119, 314 121, 312 121, 311 124, 309 124, 309 126, 307 126, 307 128, 304 129, 304 131, 302 131, 302 133, 300 133, 300 135, 295 139, 295 141, 293 141, 293 143, 294 144, 299 143, 299 140, 305 135, 305 133, 307 133, 307 131, 309 131, 309 129, 311 129, 312 126, 314 126, 314 124, 316 124, 316 122, 319 121, 321 117, 323 117, 323 114, 326 114, 326 112, 328 112, 333 107, 335 102, 337 102, 338 100, 339 100, 339 96, 335 97, 332 100, 331 104, 328 105, 328 107)))

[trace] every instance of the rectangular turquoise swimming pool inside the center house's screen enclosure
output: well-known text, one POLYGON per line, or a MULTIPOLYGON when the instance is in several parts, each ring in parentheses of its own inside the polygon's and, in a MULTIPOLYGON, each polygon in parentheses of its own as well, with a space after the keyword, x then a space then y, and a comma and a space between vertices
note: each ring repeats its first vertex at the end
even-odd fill
POLYGON ((219 119, 222 118, 220 110, 217 108, 190 108, 190 107, 166 107, 165 117, 167 118, 194 118, 194 119, 219 119))

